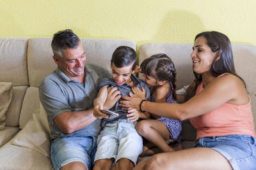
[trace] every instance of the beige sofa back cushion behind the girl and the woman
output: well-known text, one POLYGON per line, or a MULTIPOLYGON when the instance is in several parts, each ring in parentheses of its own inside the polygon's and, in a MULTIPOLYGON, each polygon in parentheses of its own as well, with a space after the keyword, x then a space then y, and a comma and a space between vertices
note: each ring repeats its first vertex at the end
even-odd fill
MULTIPOLYGON (((192 62, 190 54, 192 43, 147 43, 139 49, 139 64, 156 53, 166 53, 177 69, 177 89, 193 81, 192 62)), ((254 123, 256 124, 256 46, 232 44, 236 73, 246 82, 251 98, 254 123)), ((256 127, 255 127, 256 131, 256 127)))

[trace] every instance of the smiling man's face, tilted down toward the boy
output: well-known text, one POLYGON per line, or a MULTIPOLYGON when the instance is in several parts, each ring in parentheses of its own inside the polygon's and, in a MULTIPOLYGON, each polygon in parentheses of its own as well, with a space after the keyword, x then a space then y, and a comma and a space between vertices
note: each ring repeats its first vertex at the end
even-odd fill
POLYGON ((71 80, 84 75, 86 56, 83 45, 79 42, 77 48, 63 50, 63 57, 53 56, 54 61, 71 80))

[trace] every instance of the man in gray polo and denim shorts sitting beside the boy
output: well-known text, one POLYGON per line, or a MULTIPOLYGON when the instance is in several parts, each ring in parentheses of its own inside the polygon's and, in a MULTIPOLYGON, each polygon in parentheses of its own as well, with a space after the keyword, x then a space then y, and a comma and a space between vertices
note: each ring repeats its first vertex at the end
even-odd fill
MULTIPOLYGON (((93 99, 99 81, 110 74, 85 64, 83 45, 72 30, 54 34, 51 46, 58 67, 42 81, 39 94, 51 127, 52 164, 54 169, 92 169, 100 131, 100 120, 93 116, 93 99)), ((110 97, 106 108, 120 98, 110 97)))

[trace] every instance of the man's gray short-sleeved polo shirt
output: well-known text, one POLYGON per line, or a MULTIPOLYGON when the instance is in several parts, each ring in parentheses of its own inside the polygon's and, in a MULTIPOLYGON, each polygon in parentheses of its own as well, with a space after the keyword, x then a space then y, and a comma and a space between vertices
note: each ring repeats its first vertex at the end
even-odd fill
POLYGON ((95 64, 84 67, 84 83, 70 80, 58 67, 47 76, 39 86, 39 96, 48 115, 51 128, 51 139, 67 136, 97 136, 100 131, 100 120, 83 129, 67 134, 55 124, 54 118, 66 111, 82 111, 93 107, 97 97, 97 85, 102 78, 109 77, 108 71, 95 64))

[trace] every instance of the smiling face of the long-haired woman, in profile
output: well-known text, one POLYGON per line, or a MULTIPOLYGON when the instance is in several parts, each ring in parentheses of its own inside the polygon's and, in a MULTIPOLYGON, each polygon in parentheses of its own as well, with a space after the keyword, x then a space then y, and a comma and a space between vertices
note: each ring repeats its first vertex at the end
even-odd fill
POLYGON ((204 36, 196 39, 191 59, 193 61, 193 70, 195 73, 207 73, 211 69, 212 61, 218 52, 212 52, 211 48, 206 44, 204 36))

